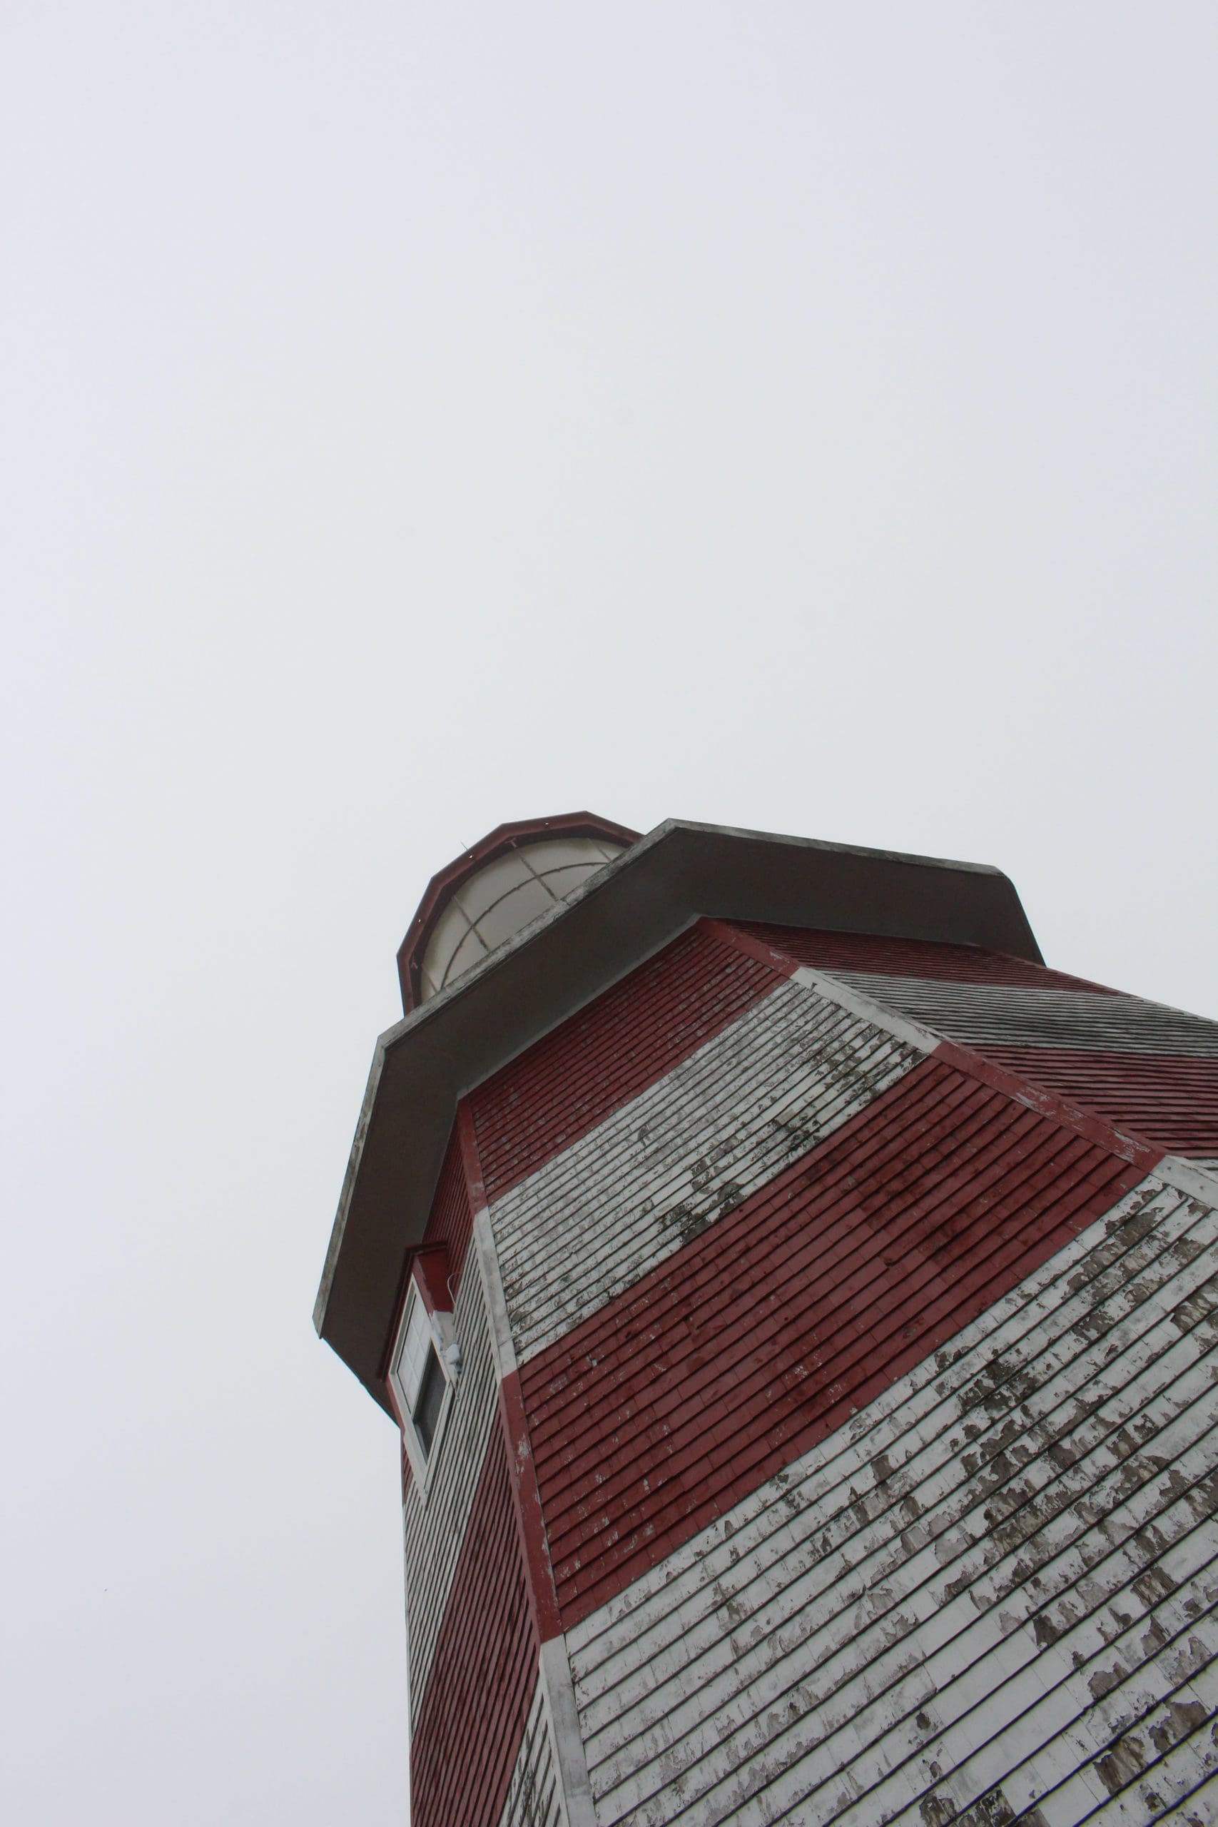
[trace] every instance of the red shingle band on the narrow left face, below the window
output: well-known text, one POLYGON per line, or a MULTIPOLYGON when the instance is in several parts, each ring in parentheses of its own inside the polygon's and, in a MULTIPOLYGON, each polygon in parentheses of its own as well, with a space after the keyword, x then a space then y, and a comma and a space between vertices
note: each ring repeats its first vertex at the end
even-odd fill
POLYGON ((411 1741, 415 1827, 495 1827, 535 1684, 537 1633, 493 1429, 411 1741))

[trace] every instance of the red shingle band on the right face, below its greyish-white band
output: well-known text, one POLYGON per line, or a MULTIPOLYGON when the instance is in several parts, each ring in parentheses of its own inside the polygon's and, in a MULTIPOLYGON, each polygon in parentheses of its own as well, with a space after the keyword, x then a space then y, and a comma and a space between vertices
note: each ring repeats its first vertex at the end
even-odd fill
POLYGON ((1171 1155, 1218 1155, 1218 1060, 1059 1047, 984 1045, 977 1052, 1171 1155))

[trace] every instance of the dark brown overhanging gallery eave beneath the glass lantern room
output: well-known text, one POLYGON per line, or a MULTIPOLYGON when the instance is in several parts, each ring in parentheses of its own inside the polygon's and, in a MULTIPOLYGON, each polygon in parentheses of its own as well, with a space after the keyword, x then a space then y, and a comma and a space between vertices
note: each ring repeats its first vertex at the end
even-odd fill
POLYGON ((373 1056, 314 1325, 387 1409, 382 1361, 457 1100, 699 915, 979 945, 1043 963, 1001 870, 668 818, 373 1056))

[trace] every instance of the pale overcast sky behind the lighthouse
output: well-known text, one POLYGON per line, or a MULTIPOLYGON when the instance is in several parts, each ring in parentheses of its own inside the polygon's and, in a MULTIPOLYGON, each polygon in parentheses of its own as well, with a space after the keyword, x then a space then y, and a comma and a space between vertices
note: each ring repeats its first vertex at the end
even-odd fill
POLYGON ((7 1822, 405 1820, 310 1308, 502 818, 997 862, 1218 1016, 1218 9, 0 9, 7 1822))

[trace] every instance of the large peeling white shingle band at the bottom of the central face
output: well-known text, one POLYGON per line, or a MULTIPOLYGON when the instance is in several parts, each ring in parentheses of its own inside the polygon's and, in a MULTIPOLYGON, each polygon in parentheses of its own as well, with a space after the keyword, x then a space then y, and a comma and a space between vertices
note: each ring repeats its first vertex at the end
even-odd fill
POLYGON ((1216 1246, 1150 1178, 573 1626, 601 1827, 1149 1823, 1209 1781, 1216 1246))

